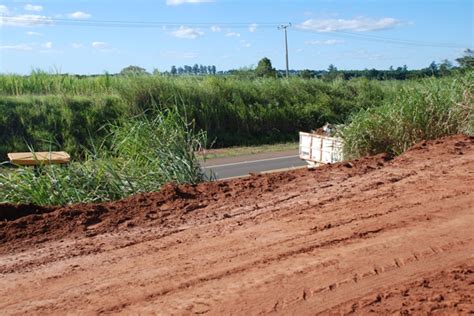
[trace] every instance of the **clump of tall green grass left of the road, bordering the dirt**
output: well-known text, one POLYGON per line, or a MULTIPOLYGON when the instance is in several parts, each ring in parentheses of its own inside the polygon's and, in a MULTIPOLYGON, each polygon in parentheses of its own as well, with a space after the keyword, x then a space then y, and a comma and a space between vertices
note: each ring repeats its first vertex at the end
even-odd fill
POLYGON ((157 191, 167 182, 197 183, 194 155, 205 141, 175 110, 108 126, 107 145, 65 166, 0 172, 0 202, 64 205, 157 191))

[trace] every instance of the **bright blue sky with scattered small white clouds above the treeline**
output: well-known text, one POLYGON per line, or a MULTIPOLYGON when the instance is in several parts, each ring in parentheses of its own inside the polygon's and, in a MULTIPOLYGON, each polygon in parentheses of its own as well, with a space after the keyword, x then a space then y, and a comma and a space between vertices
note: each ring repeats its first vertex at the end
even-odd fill
POLYGON ((474 46, 472 0, 0 1, 0 72, 115 73, 128 65, 423 68, 474 46), (115 22, 113 22, 115 21, 115 22))

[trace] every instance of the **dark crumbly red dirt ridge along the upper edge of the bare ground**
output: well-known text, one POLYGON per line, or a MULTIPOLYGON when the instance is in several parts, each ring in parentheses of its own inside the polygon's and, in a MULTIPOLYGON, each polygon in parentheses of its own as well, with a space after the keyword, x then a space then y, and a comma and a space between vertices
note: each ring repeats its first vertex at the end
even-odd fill
MULTIPOLYGON (((367 173, 388 161, 385 155, 351 163, 328 165, 314 172, 315 179, 328 179, 335 170, 343 176, 367 173)), ((165 185, 160 192, 143 193, 101 204, 59 207, 0 204, 0 245, 5 247, 60 239, 65 236, 93 236, 135 226, 177 227, 199 209, 221 201, 255 199, 265 192, 301 177, 308 171, 253 175, 250 178, 207 182, 198 185, 165 185), (27 240, 19 243, 19 240, 27 240), (16 241, 12 243, 12 241, 16 241)), ((227 216, 225 213, 222 216, 227 216)), ((11 249, 11 248, 10 248, 11 249)))

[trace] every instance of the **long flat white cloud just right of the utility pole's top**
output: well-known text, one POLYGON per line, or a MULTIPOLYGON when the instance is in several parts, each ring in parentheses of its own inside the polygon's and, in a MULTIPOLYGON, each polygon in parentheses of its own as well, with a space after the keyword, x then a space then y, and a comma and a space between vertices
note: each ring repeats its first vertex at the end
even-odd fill
POLYGON ((392 28, 400 25, 401 22, 394 18, 369 19, 355 18, 345 19, 309 19, 297 25, 300 29, 315 32, 335 32, 335 31, 355 31, 366 32, 392 28))

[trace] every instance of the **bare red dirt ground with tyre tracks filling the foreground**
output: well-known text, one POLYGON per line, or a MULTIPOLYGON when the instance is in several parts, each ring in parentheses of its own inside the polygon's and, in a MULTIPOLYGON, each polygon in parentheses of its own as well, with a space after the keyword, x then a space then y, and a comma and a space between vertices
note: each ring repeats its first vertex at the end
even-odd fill
POLYGON ((3 205, 0 311, 473 313, 473 188, 474 139, 455 136, 114 203, 3 205))

